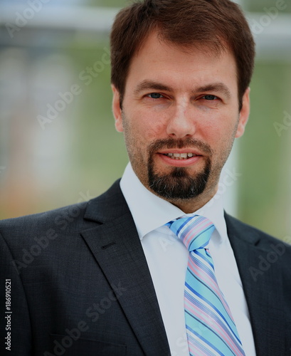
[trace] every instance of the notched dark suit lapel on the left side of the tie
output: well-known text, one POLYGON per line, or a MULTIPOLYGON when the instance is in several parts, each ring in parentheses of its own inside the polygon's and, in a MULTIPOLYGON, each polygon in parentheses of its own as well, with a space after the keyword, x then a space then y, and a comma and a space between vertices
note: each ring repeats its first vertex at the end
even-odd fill
POLYGON ((82 236, 108 283, 123 288, 118 300, 144 353, 169 354, 152 278, 119 184, 92 201, 85 219, 103 221, 82 236))

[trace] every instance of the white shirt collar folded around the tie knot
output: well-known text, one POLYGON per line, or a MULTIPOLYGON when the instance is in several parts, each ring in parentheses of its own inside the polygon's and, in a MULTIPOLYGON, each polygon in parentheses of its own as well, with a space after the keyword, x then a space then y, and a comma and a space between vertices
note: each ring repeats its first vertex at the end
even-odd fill
POLYGON ((227 236, 221 194, 216 193, 198 211, 194 211, 192 214, 185 214, 177 206, 157 197, 157 195, 144 187, 134 173, 130 163, 125 168, 120 181, 120 188, 132 213, 134 223, 137 226, 139 239, 143 239, 150 231, 163 226, 171 220, 177 219, 179 216, 192 216, 194 214, 205 216, 211 220, 216 226, 221 239, 227 236))

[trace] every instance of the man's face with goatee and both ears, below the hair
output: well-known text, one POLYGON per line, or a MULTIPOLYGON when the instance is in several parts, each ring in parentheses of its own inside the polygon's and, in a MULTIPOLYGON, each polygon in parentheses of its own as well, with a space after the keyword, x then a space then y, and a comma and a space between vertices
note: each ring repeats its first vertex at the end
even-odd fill
POLYGON ((115 126, 142 184, 178 206, 211 199, 248 120, 249 91, 239 112, 231 52, 184 51, 152 33, 132 58, 122 110, 113 93, 115 126))

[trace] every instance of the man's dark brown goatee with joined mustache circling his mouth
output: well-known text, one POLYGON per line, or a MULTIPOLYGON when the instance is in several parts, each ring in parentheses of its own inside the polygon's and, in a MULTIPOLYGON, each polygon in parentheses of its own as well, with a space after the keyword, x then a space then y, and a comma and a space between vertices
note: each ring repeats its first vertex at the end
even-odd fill
POLYGON ((149 150, 148 161, 148 179, 149 188, 152 189, 159 197, 166 200, 187 200, 198 197, 204 192, 211 172, 211 148, 201 141, 197 140, 159 140, 151 145, 149 150), (154 152, 162 147, 183 148, 199 147, 208 156, 205 157, 205 167, 202 172, 197 173, 194 177, 189 175, 185 167, 174 167, 169 174, 158 174, 154 172, 154 152))

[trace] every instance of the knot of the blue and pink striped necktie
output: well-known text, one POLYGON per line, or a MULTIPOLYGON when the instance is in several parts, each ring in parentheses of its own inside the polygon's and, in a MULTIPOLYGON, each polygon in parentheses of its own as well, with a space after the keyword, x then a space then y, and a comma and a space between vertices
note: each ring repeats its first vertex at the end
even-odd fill
POLYGON ((169 221, 166 226, 169 226, 189 251, 206 248, 215 229, 209 219, 199 215, 169 221))

